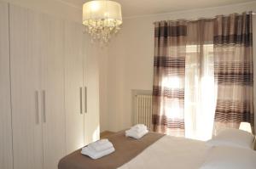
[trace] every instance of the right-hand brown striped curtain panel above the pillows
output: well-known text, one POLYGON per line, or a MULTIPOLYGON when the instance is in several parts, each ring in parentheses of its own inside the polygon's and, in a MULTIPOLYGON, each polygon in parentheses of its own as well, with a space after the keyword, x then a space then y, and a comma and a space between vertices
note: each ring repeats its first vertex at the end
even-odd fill
POLYGON ((214 76, 218 83, 214 132, 238 128, 253 117, 252 14, 218 16, 214 20, 214 76))

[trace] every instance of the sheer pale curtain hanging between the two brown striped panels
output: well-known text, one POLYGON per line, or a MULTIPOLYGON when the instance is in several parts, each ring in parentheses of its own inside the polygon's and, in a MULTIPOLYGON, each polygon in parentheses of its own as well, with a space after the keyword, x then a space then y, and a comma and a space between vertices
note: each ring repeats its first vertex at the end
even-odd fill
POLYGON ((188 24, 185 62, 185 136, 212 138, 215 113, 213 66, 213 21, 195 20, 188 24))

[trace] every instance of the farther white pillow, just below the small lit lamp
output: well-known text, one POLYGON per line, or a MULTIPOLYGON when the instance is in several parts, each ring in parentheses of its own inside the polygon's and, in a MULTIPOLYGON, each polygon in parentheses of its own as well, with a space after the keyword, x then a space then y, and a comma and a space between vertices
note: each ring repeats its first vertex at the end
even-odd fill
POLYGON ((207 144, 211 146, 227 145, 253 149, 253 139, 254 136, 250 132, 226 128, 219 132, 217 136, 207 141, 207 144))

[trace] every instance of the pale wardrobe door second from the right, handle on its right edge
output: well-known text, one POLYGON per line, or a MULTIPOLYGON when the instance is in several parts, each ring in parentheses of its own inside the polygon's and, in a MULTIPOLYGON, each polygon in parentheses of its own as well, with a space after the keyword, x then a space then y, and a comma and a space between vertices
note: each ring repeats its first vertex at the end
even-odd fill
POLYGON ((67 154, 84 146, 83 30, 82 25, 65 22, 65 111, 67 154))

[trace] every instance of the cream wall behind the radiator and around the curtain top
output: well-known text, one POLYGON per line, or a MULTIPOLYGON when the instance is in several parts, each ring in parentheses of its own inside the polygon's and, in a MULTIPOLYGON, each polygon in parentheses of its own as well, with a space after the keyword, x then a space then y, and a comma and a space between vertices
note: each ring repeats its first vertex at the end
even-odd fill
MULTIPOLYGON (((105 79, 107 86, 102 88, 102 91, 107 93, 102 110, 107 110, 107 112, 105 112, 105 118, 102 120, 104 121, 102 131, 110 130, 115 132, 130 127, 132 122, 131 90, 152 90, 154 21, 195 20, 201 17, 207 18, 218 14, 241 13, 247 10, 256 12, 256 2, 126 18, 119 34, 112 38, 108 47, 108 63, 106 63, 108 65, 108 78, 105 79)), ((254 26, 253 30, 256 30, 256 26, 254 26)), ((256 39, 255 34, 256 31, 253 41, 256 39)), ((255 44, 253 43, 254 49, 256 49, 255 44)), ((256 53, 254 53, 254 56, 256 56, 256 53)))

